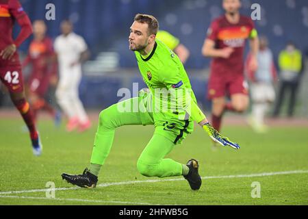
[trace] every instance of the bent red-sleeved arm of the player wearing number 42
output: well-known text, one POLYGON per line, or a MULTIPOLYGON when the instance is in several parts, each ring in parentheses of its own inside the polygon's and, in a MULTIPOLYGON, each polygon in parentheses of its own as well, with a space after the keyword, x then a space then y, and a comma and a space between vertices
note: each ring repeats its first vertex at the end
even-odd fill
POLYGON ((32 34, 31 21, 27 14, 23 11, 21 3, 18 0, 9 1, 10 14, 16 19, 18 25, 21 26, 21 31, 19 32, 16 40, 13 44, 5 47, 3 51, 0 52, 0 56, 3 60, 10 60, 16 49, 32 34))

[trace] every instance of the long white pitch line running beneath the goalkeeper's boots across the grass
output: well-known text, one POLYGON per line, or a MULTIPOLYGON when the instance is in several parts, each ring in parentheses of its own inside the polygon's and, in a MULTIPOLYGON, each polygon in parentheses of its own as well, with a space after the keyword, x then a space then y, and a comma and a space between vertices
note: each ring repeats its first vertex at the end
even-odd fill
MULTIPOLYGON (((291 171, 283 171, 283 172, 261 172, 261 173, 253 173, 248 175, 229 175, 229 176, 209 176, 209 177, 201 177, 201 179, 232 179, 232 178, 249 178, 249 177, 268 177, 274 175, 292 175, 292 174, 300 174, 300 173, 308 173, 308 170, 291 170, 291 171)), ((185 180, 183 178, 175 178, 175 179, 148 179, 148 180, 140 180, 140 181, 123 181, 123 182, 115 182, 115 183, 101 183, 97 185, 97 187, 109 187, 112 185, 131 185, 135 183, 160 183, 166 181, 182 181, 185 180)), ((55 188, 55 191, 63 191, 63 190, 77 190, 79 187, 73 188, 55 188)), ((21 194, 21 193, 31 193, 31 192, 46 192, 51 189, 38 189, 38 190, 21 190, 21 191, 8 191, 8 192, 0 192, 0 195, 3 194, 21 194)))

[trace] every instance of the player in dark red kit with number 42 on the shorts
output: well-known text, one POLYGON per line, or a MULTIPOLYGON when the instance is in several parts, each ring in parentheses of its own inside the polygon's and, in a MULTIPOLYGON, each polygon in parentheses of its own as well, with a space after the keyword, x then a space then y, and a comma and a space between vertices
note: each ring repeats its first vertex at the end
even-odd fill
POLYGON ((33 153, 40 155, 42 145, 29 103, 25 100, 21 63, 16 49, 31 33, 31 22, 18 0, 0 0, 0 79, 10 92, 12 102, 29 129, 33 153), (21 26, 16 40, 12 38, 14 22, 21 26))

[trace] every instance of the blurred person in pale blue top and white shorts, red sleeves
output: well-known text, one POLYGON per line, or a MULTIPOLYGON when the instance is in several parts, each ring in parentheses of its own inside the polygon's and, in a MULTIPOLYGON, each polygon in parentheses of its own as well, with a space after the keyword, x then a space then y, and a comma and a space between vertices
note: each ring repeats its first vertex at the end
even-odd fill
POLYGON ((253 71, 247 68, 251 59, 251 53, 246 60, 246 73, 251 82, 252 113, 248 123, 256 132, 267 130, 264 117, 270 103, 274 102, 275 92, 273 83, 277 79, 277 70, 274 66, 272 51, 268 48, 268 39, 265 36, 259 38, 259 53, 257 54, 258 68, 253 71))

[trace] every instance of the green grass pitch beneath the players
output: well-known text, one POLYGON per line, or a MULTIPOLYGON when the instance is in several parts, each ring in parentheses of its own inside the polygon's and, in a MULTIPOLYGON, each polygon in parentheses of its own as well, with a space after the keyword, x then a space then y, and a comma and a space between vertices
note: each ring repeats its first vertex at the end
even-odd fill
POLYGON ((64 125, 55 129, 51 120, 40 120, 44 150, 41 157, 34 157, 28 134, 21 131, 21 118, 1 118, 0 205, 308 204, 307 127, 274 127, 269 133, 256 134, 248 127, 226 124, 222 132, 240 143, 239 151, 212 151, 209 137, 195 127, 194 133, 168 157, 181 163, 198 159, 201 177, 205 177, 199 191, 190 190, 183 177, 158 179, 140 175, 136 162, 153 127, 121 127, 99 175, 100 185, 93 190, 76 189, 62 181, 61 173, 80 174, 88 166, 96 125, 86 133, 67 133, 64 125), (305 171, 274 175, 294 170, 305 171), (263 172, 272 174, 256 175, 263 172), (153 181, 146 181, 149 179, 153 181), (55 198, 46 196, 49 181, 55 183, 55 198), (253 182, 260 185, 260 198, 251 196, 253 182))

